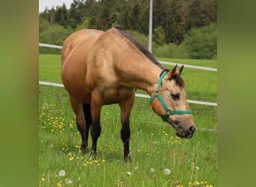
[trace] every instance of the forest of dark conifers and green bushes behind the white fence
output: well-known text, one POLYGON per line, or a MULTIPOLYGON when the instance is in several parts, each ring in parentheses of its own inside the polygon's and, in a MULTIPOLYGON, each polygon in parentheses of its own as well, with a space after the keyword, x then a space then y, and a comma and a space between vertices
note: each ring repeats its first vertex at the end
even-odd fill
MULTIPOLYGON (((39 13, 39 42, 62 45, 83 28, 103 31, 121 25, 147 48, 150 0, 73 0, 70 9, 39 13)), ((217 58, 216 0, 153 0, 153 55, 164 58, 217 58)), ((60 53, 40 47, 40 53, 60 53)))

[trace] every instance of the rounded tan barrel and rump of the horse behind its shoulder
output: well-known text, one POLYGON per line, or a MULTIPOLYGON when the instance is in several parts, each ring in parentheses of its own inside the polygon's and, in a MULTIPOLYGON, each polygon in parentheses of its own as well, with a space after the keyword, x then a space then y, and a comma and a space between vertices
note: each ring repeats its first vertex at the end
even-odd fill
POLYGON ((61 79, 70 95, 88 94, 85 90, 88 52, 103 33, 94 29, 83 29, 70 34, 64 41, 61 53, 61 79))

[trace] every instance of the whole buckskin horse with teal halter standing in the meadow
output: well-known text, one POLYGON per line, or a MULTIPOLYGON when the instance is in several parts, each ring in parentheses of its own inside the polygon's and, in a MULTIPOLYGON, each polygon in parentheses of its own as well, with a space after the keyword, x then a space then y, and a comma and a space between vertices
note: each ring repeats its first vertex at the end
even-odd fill
POLYGON ((100 112, 103 105, 119 104, 124 161, 130 161, 129 118, 136 89, 146 91, 153 111, 176 129, 181 138, 192 138, 195 122, 186 101, 183 66, 166 69, 124 28, 108 31, 82 29, 64 40, 61 51, 61 79, 69 96, 82 138, 80 150, 97 155, 100 112))

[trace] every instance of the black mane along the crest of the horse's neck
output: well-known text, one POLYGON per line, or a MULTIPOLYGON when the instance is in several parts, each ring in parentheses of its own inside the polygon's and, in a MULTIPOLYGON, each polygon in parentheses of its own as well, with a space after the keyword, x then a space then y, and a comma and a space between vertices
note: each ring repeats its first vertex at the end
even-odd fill
POLYGON ((127 40, 133 43, 147 58, 150 59, 150 61, 153 62, 153 64, 156 64, 162 70, 167 70, 165 67, 162 66, 162 64, 156 61, 156 58, 154 58, 153 55, 147 49, 145 49, 144 46, 141 45, 141 43, 138 43, 130 34, 128 34, 127 31, 124 30, 124 28, 121 28, 120 25, 115 25, 115 29, 118 30, 118 32, 122 36, 126 37, 127 40))

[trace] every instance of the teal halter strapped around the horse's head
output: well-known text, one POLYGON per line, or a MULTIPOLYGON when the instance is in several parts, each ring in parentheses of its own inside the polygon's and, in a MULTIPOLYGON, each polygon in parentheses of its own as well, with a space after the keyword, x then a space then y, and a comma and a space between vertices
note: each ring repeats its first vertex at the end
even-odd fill
POLYGON ((171 109, 168 108, 168 106, 165 104, 164 100, 162 99, 162 96, 160 95, 160 86, 162 83, 162 79, 164 78, 164 76, 166 75, 166 73, 168 73, 168 71, 163 71, 160 76, 157 88, 156 88, 156 92, 153 93, 153 96, 150 97, 150 103, 153 101, 153 99, 155 99, 156 97, 158 97, 159 101, 162 103, 163 108, 165 108, 165 116, 162 116, 162 120, 167 121, 169 115, 171 114, 192 114, 192 111, 172 111, 171 109))

